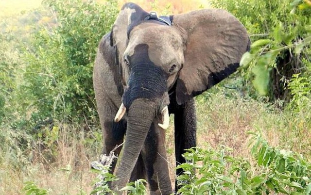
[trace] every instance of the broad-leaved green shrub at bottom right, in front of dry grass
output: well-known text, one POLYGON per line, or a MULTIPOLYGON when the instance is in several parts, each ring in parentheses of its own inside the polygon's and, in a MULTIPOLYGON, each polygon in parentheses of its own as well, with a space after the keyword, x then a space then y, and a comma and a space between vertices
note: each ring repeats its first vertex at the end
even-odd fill
MULTIPOLYGON (((254 133, 252 133, 254 134, 254 133)), ((225 148, 191 148, 184 154, 185 172, 178 176, 181 195, 287 195, 311 193, 311 163, 292 151, 268 146, 254 134, 251 153, 257 164, 225 154, 225 148)))

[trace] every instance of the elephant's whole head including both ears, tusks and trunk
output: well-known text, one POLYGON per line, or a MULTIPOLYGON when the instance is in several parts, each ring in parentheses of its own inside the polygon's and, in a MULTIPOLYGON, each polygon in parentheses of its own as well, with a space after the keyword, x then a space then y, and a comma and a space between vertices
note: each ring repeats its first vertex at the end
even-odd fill
POLYGON ((178 104, 203 93, 233 73, 249 47, 243 25, 224 10, 193 11, 168 22, 149 17, 126 3, 111 31, 124 87, 115 121, 125 110, 128 115, 118 187, 129 179, 155 118, 167 128, 169 93, 175 92, 178 104))

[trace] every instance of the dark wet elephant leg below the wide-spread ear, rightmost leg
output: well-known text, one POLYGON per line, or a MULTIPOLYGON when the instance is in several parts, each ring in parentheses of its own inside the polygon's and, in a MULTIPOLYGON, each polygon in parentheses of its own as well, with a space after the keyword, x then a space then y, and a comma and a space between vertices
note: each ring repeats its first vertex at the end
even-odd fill
MULTIPOLYGON (((194 99, 177 105, 174 108, 175 124, 175 157, 176 165, 186 162, 181 156, 185 149, 196 146, 196 113, 194 99)), ((182 169, 176 170, 176 175, 182 174, 182 169)), ((175 191, 178 191, 177 181, 175 181, 175 191)))

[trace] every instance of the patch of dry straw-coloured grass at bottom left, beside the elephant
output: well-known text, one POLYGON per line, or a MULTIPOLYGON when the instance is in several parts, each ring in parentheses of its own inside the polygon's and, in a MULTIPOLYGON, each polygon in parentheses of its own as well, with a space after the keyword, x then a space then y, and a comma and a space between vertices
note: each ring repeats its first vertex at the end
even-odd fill
POLYGON ((25 181, 34 181, 53 195, 75 195, 92 190, 91 181, 96 175, 90 172, 90 161, 99 156, 101 146, 98 150, 92 148, 98 143, 87 143, 89 133, 80 131, 76 126, 59 124, 59 127, 57 139, 51 147, 43 148, 38 144, 32 149, 29 154, 31 164, 21 170, 11 166, 10 162, 1 164, 1 195, 24 194, 25 181))

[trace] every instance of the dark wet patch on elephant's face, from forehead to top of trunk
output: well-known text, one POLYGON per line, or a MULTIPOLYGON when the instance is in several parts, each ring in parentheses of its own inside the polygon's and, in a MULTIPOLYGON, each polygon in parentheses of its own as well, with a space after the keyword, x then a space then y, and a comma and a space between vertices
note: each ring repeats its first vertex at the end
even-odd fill
POLYGON ((149 58, 149 46, 138 44, 128 56, 130 77, 122 102, 129 108, 137 98, 155 99, 167 91, 168 74, 149 58))

